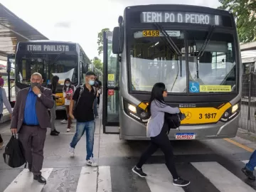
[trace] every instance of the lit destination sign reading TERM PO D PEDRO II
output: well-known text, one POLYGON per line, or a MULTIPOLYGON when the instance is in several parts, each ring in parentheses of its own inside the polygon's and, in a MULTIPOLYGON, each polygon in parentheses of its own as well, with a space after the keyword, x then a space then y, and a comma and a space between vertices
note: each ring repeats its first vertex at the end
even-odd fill
POLYGON ((142 12, 142 23, 195 23, 202 25, 220 25, 220 16, 182 12, 142 12))

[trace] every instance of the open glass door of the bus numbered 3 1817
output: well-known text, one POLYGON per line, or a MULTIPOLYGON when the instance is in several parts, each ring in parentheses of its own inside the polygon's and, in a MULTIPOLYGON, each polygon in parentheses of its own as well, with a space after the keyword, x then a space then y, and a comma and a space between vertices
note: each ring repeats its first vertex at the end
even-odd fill
POLYGON ((119 64, 112 53, 112 32, 103 32, 103 132, 119 134, 119 64))

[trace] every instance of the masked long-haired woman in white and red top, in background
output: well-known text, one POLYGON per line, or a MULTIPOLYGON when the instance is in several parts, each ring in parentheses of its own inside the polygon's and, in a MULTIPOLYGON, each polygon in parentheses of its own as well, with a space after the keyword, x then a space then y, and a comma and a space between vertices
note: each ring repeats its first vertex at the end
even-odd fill
POLYGON ((64 87, 63 87, 63 97, 65 98, 65 110, 68 117, 68 129, 67 132, 70 132, 71 127, 71 117, 69 116, 69 107, 70 107, 70 100, 72 99, 75 92, 75 86, 71 85, 71 81, 69 78, 65 79, 64 87))

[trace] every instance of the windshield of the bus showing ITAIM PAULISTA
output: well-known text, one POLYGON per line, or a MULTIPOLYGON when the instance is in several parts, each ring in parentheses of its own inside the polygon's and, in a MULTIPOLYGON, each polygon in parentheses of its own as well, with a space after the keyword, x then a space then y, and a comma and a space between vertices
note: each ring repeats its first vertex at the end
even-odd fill
POLYGON ((65 78, 78 82, 78 55, 65 54, 30 54, 16 59, 16 78, 18 82, 30 84, 31 74, 41 73, 43 83, 58 75, 59 84, 64 85, 65 78))

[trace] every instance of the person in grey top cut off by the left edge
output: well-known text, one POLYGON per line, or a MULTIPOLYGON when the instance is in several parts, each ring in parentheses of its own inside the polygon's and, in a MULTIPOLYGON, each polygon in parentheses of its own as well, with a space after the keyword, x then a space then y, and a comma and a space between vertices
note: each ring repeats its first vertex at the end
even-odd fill
MULTIPOLYGON (((4 105, 6 109, 9 111, 10 119, 11 119, 11 114, 12 114, 11 105, 9 100, 7 99, 6 91, 4 90, 4 79, 0 78, 0 120, 3 117, 4 105)), ((3 148, 4 148, 4 140, 2 139, 0 134, 0 149, 3 149, 3 148)))

